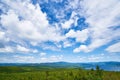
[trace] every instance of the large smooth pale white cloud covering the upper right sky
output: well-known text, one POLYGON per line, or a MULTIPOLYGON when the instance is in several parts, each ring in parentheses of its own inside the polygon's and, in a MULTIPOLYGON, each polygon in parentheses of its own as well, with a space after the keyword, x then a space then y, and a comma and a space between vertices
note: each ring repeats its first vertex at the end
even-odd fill
POLYGON ((76 48, 77 52, 93 51, 120 37, 120 31, 116 28, 120 25, 119 0, 84 0, 81 5, 86 22, 89 23, 91 42, 86 45, 86 49, 81 49, 82 46, 76 48))

